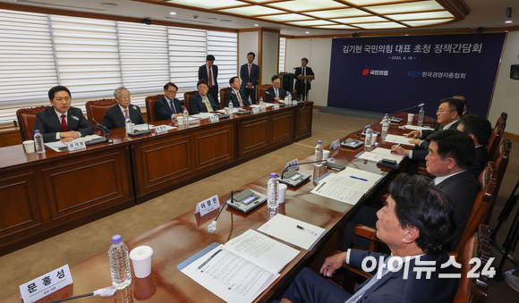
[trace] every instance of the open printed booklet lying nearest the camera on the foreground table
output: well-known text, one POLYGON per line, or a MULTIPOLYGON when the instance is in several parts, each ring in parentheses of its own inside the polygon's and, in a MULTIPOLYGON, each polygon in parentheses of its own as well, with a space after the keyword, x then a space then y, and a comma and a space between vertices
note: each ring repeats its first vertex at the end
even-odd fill
POLYGON ((300 253, 258 231, 246 231, 183 267, 182 272, 226 302, 252 302, 300 253))

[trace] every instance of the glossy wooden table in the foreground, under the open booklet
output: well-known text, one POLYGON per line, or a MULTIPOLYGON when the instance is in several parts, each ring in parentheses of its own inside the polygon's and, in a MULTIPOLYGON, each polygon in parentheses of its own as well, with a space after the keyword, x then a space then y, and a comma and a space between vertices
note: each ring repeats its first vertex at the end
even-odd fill
MULTIPOLYGON (((401 116, 406 116, 401 114, 401 116)), ((405 124, 405 119, 399 124, 391 124, 388 133, 404 134, 408 130, 401 130, 399 125, 405 124)), ((432 120, 431 120, 432 122, 432 120)), ((380 131, 380 126, 375 125, 374 130, 380 131)), ((350 135, 350 138, 358 137, 361 130, 350 135)), ((384 133, 382 133, 384 135, 384 133)), ((393 144, 386 143, 380 136, 377 147, 390 148, 393 144)), ((344 138, 343 138, 344 139, 344 138)), ((264 290, 254 302, 268 302, 277 298, 294 280, 303 267, 311 265, 316 258, 321 257, 323 252, 328 248, 342 248, 342 235, 345 223, 362 207, 371 201, 379 198, 385 193, 387 184, 391 178, 399 172, 397 169, 390 169, 377 165, 375 162, 359 159, 355 157, 360 152, 370 151, 375 147, 358 147, 355 149, 348 147, 339 147, 330 152, 330 157, 336 159, 336 164, 343 164, 347 167, 378 173, 382 177, 378 183, 367 192, 361 200, 353 205, 336 201, 330 198, 324 198, 311 194, 311 189, 316 186, 316 180, 324 173, 336 173, 328 170, 323 164, 315 167, 313 164, 301 164, 299 172, 311 174, 311 179, 306 181, 298 188, 288 188, 286 191, 285 203, 280 204, 278 213, 287 215, 306 223, 311 223, 327 229, 328 232, 319 242, 311 248, 311 250, 296 247, 290 243, 284 242, 286 245, 300 251, 280 272, 281 276, 272 283, 267 290, 264 290)), ((408 146, 406 148, 411 148, 408 146)), ((289 162, 293 159, 287 158, 289 162)), ((313 154, 304 159, 300 159, 300 163, 312 161, 313 154)), ((405 162, 405 161, 404 161, 405 162)), ((404 164, 403 162, 403 164, 404 164)), ((401 166, 402 167, 402 166, 401 166)), ((283 172, 283 168, 277 170, 278 175, 283 172)), ((250 184, 243 185, 235 190, 253 189, 260 193, 267 194, 268 176, 263 176, 250 184)), ((212 194, 207 193, 210 197, 212 194)), ((228 194, 219 197, 220 203, 225 203, 228 194)), ((201 249, 206 248, 213 242, 225 244, 226 241, 241 235, 244 231, 250 229, 257 230, 259 226, 268 222, 269 212, 267 204, 257 207, 249 214, 243 214, 233 208, 225 206, 225 209, 219 215, 217 220, 217 230, 208 232, 208 224, 217 216, 218 211, 215 210, 208 215, 195 215, 194 210, 187 212, 179 217, 173 218, 171 221, 157 226, 149 231, 140 234, 132 239, 124 239, 128 248, 136 248, 141 245, 147 245, 154 250, 152 257, 151 274, 144 279, 132 276, 132 285, 124 290, 118 290, 114 297, 100 298, 94 297, 83 299, 89 302, 220 302, 215 294, 206 290, 197 282, 194 282, 187 275, 177 269, 177 265, 187 258, 193 256, 201 249)), ((327 257, 327 256, 324 256, 327 257)), ((133 272, 133 271, 132 271, 133 272)), ((71 266, 73 284, 58 290, 55 294, 47 297, 50 299, 63 299, 72 295, 80 295, 89 293, 111 285, 110 265, 108 260, 107 249, 96 256, 71 266)), ((43 302, 44 300, 42 300, 43 302)), ((1 300, 4 302, 20 302, 20 294, 1 300)))

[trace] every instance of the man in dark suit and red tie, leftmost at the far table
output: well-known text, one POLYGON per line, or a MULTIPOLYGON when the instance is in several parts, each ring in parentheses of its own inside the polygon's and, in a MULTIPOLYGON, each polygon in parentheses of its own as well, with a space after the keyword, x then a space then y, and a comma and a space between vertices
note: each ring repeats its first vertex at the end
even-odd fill
POLYGON ((94 132, 94 127, 87 121, 81 109, 71 107, 72 96, 68 88, 50 88, 48 98, 53 107, 36 114, 32 136, 34 130, 39 130, 45 142, 70 142, 94 132))

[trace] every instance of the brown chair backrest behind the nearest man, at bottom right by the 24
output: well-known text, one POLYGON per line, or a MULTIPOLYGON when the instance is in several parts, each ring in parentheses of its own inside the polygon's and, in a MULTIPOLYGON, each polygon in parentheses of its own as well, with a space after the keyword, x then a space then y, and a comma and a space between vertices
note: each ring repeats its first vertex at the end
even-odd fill
POLYGON ((484 303, 487 301, 490 279, 487 275, 481 274, 481 270, 492 257, 489 233, 489 226, 480 224, 475 234, 465 242, 464 248, 458 255, 456 262, 462 265, 458 274, 462 276, 458 279, 454 303, 484 303), (479 274, 478 278, 467 277, 472 267, 477 265, 477 263, 469 263, 472 257, 478 257, 481 260, 481 265, 474 271, 474 274, 479 274))

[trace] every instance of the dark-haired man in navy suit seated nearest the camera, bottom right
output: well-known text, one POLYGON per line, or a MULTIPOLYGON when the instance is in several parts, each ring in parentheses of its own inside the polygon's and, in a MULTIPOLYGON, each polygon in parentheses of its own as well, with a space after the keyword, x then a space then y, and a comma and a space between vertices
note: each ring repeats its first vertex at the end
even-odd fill
POLYGON ((331 277, 345 263, 370 272, 370 279, 351 295, 305 268, 283 294, 281 303, 452 302, 457 280, 440 274, 455 273, 441 265, 455 229, 451 200, 423 176, 400 174, 389 187, 389 198, 379 210, 377 237, 387 243, 392 256, 349 249, 325 259, 320 274, 331 277), (418 278, 420 261, 432 261, 426 279, 418 278), (363 264, 363 261, 367 261, 363 264), (383 263, 382 265, 380 263, 383 263), (432 267, 432 268, 431 268, 432 267))

